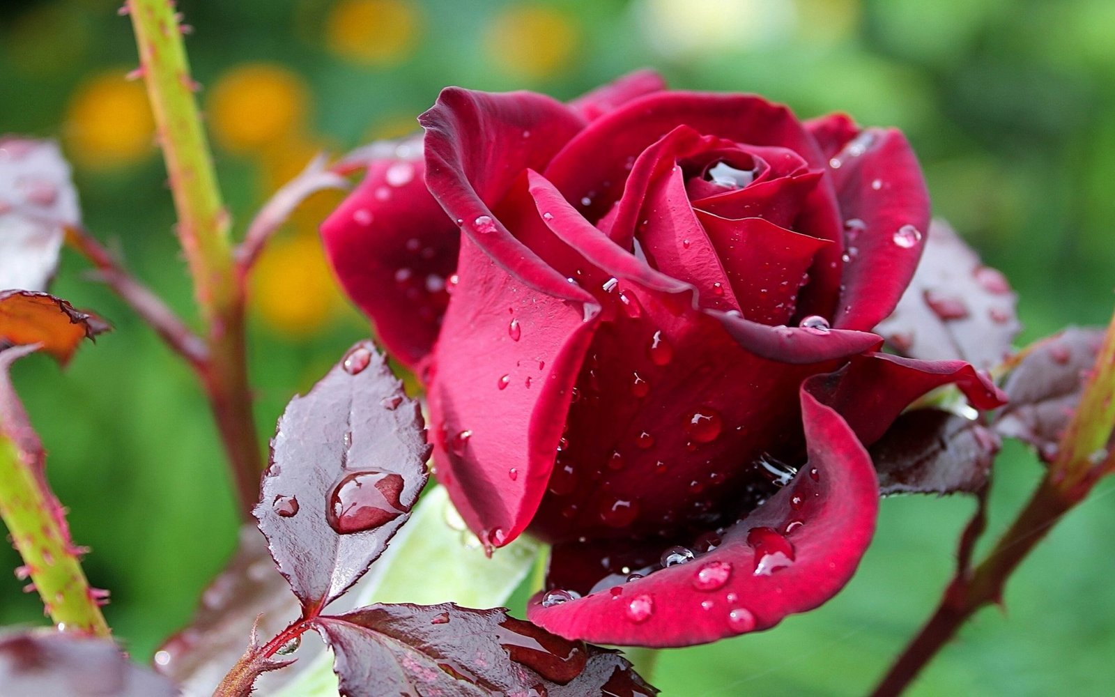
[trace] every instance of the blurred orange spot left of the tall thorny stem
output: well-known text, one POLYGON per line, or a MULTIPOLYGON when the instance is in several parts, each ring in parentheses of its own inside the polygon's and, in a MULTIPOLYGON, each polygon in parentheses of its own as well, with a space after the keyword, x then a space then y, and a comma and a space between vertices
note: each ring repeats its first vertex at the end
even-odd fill
POLYGON ((66 109, 66 145, 77 164, 90 168, 132 164, 154 154, 155 122, 143 83, 127 81, 123 68, 81 83, 66 109))

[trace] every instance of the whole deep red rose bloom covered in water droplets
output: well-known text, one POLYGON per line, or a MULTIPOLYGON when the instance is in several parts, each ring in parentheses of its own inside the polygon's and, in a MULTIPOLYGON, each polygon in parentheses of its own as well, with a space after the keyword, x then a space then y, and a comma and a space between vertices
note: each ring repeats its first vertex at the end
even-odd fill
POLYGON ((326 221, 421 376, 485 545, 553 545, 527 614, 686 646, 831 598, 874 531, 865 446, 961 361, 879 352, 929 199, 901 133, 637 72, 570 104, 450 87, 326 221))

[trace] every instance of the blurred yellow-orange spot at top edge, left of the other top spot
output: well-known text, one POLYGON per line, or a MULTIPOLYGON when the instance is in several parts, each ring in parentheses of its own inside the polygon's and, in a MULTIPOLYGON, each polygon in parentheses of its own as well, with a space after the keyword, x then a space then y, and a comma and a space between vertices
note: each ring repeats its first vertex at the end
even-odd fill
POLYGON ((419 21, 406 0, 340 0, 326 19, 326 46, 352 62, 398 62, 414 48, 419 21))

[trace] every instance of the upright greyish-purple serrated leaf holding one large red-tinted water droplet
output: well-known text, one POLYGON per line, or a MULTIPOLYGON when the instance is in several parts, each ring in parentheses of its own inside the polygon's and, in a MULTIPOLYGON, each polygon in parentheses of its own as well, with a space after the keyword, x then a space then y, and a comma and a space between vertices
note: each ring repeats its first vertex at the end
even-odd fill
POLYGON ((291 399, 253 514, 307 617, 387 549, 426 484, 428 456, 417 403, 370 341, 291 399))

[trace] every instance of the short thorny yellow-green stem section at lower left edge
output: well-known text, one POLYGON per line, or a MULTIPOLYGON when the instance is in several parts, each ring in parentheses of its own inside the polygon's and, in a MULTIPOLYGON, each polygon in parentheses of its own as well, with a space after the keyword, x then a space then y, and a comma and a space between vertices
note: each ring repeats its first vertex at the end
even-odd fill
MULTIPOLYGON (((50 618, 66 630, 108 637, 108 625, 81 571, 60 507, 25 453, 0 435, 0 516, 50 618), (59 512, 57 515, 54 512, 59 512)), ((20 573, 23 575, 23 573, 20 573)))

